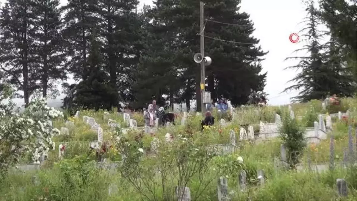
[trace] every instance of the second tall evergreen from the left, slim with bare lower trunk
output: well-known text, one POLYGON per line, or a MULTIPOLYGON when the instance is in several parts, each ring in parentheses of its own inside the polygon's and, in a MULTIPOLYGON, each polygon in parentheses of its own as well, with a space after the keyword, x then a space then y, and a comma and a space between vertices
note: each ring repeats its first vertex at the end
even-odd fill
MULTIPOLYGON (((36 56, 34 63, 41 77, 43 97, 47 92, 58 93, 55 81, 67 79, 64 61, 64 41, 61 35, 63 24, 59 0, 34 0, 35 43, 36 56)), ((52 93, 52 94, 55 94, 52 93)))

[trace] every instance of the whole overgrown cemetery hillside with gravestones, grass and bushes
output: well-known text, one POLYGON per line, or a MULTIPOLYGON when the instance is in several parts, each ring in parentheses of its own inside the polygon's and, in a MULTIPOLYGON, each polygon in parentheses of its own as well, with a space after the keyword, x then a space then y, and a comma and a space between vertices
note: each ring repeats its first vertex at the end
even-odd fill
POLYGON ((203 132, 183 112, 151 135, 141 112, 70 116, 34 99, 1 109, 1 200, 356 200, 356 108, 231 108, 203 132))

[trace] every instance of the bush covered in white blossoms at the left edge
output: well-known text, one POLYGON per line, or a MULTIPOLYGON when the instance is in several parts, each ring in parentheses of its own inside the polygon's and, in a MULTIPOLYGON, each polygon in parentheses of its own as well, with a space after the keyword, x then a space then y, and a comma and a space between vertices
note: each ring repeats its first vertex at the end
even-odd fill
MULTIPOLYGON (((9 94, 0 94, 0 100, 9 98, 9 94)), ((46 157, 54 149, 52 141, 58 129, 52 128, 52 120, 63 116, 62 112, 47 107, 46 99, 36 95, 25 111, 14 110, 11 102, 0 104, 0 171, 4 173, 10 166, 19 162, 26 153, 32 154, 32 162, 40 163, 41 156, 46 157)))

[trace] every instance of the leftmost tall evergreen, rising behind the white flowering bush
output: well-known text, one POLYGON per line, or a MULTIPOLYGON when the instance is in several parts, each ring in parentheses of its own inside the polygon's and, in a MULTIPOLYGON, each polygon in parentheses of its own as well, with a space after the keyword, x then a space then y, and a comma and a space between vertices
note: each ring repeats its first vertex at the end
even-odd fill
POLYGON ((25 107, 30 95, 40 86, 34 65, 34 14, 32 1, 8 0, 0 13, 0 63, 9 76, 9 83, 22 90, 25 107))

